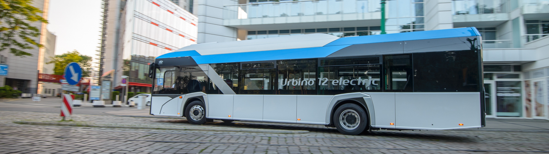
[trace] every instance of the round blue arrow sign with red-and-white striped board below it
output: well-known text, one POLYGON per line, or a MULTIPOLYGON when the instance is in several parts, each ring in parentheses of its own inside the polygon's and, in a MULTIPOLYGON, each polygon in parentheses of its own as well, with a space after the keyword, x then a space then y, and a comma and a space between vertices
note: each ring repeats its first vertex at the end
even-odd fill
MULTIPOLYGON (((80 79, 82 79, 82 69, 80 68, 80 65, 76 62, 69 63, 65 67, 63 77, 65 77, 66 83, 68 83, 62 85, 63 87, 61 88, 63 90, 79 92, 80 87, 74 85, 78 84, 80 79)), ((74 95, 63 94, 63 102, 61 102, 61 117, 63 117, 63 119, 61 121, 65 121, 65 117, 72 115, 72 100, 74 100, 74 95)))

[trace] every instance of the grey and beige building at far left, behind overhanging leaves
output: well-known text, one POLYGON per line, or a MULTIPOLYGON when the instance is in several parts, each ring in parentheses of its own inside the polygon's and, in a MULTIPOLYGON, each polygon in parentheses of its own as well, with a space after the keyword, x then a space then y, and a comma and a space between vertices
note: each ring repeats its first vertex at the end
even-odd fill
MULTIPOLYGON (((30 5, 42 10, 42 18, 48 19, 49 0, 32 1, 30 5)), ((47 44, 47 24, 31 22, 30 25, 40 30, 39 37, 31 38, 40 44, 47 44)), ((37 94, 38 73, 43 72, 44 69, 49 69, 49 66, 44 66, 44 56, 47 54, 47 49, 34 47, 33 49, 23 49, 23 51, 32 55, 20 57, 10 54, 8 50, 0 52, 0 70, 2 70, 0 71, 0 87, 9 85, 22 93, 37 94)))

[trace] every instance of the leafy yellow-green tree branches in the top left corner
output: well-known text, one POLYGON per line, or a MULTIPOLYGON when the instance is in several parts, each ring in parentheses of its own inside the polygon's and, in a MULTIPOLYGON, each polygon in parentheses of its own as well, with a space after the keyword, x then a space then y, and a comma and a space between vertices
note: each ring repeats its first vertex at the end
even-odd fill
POLYGON ((40 36, 40 30, 32 22, 48 23, 42 11, 32 7, 31 0, 0 0, 0 52, 9 50, 15 56, 32 56, 24 49, 42 48, 32 37, 40 36))

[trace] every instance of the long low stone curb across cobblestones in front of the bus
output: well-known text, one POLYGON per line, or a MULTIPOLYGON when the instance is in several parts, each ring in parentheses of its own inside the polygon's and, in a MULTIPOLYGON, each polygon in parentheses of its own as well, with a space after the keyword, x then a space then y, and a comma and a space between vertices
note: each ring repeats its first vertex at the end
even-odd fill
POLYGON ((56 122, 30 122, 14 121, 17 124, 32 124, 41 126, 72 126, 72 127, 99 127, 99 128, 130 128, 130 129, 163 129, 163 130, 189 130, 205 132, 244 132, 244 133, 268 133, 268 134, 307 134, 307 130, 251 130, 251 129, 215 129, 215 128, 170 128, 170 127, 142 127, 142 126, 108 126, 97 124, 75 124, 75 123, 56 123, 56 122))

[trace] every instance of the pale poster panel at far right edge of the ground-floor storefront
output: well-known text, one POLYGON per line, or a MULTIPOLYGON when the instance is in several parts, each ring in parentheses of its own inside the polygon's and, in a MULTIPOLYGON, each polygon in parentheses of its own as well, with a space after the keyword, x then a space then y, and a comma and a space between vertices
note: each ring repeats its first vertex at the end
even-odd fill
POLYGON ((531 108, 532 117, 535 119, 547 118, 547 99, 546 99, 546 81, 544 79, 533 79, 531 83, 531 108))

